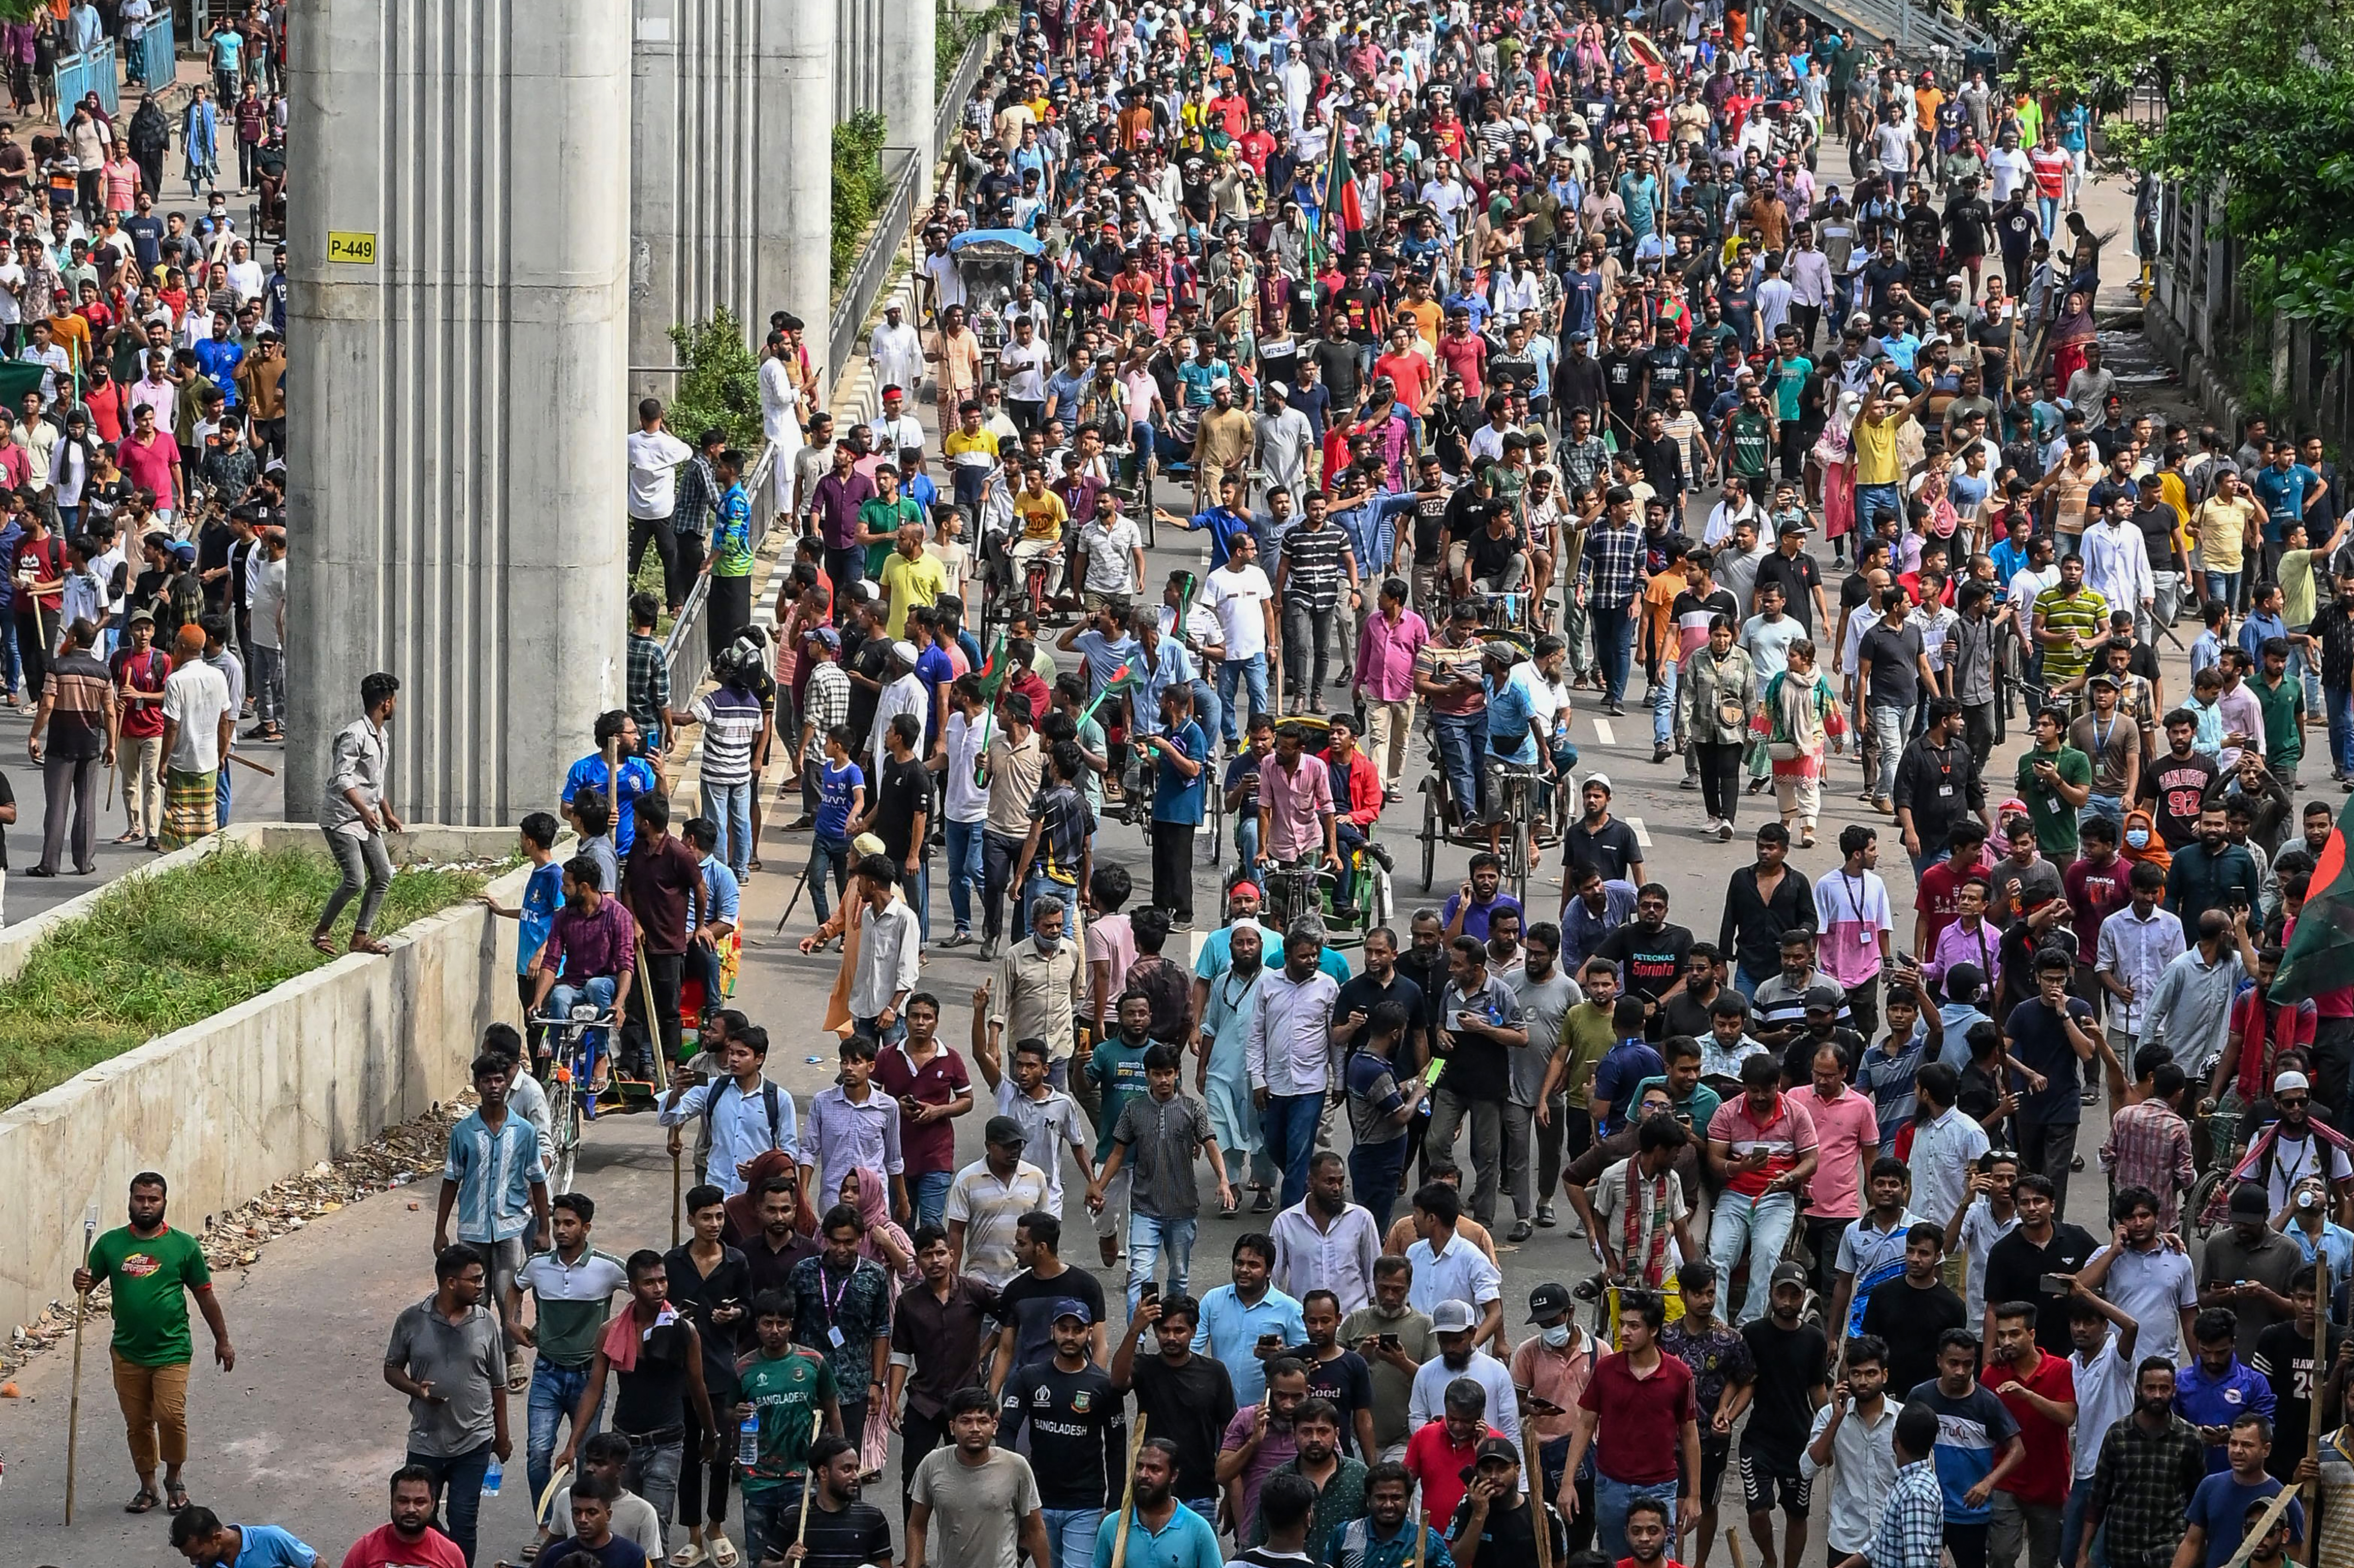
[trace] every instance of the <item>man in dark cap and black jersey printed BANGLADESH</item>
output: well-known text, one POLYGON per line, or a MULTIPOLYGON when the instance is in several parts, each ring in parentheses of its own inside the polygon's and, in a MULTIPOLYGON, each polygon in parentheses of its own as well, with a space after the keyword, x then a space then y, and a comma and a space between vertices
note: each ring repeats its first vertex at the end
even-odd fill
POLYGON ((1012 1448, 1029 1425, 1038 1505, 1055 1547, 1055 1563, 1043 1568, 1095 1559, 1104 1507, 1128 1465, 1128 1401, 1090 1356, 1095 1314, 1078 1298, 1055 1302, 1052 1312, 1052 1359, 1031 1361, 1005 1380, 998 1415, 1003 1448, 1012 1448))

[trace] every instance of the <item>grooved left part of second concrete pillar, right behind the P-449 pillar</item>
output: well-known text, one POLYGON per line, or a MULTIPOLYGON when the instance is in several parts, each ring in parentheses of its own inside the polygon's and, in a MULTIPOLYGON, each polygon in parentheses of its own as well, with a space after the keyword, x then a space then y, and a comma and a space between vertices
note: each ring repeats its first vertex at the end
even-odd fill
MULTIPOLYGON (((676 376, 671 327, 725 306, 758 341, 758 0, 633 0, 629 103, 629 395, 676 376)), ((687 433, 685 440, 694 440, 687 433)))

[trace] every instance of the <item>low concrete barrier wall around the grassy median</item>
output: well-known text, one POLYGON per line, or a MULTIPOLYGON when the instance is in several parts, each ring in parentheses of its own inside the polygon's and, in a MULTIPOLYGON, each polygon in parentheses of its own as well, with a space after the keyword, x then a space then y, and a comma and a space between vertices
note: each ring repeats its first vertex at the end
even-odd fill
MULTIPOLYGON (((233 827, 228 837, 318 844, 315 830, 287 825, 233 827)), ((508 830, 428 827, 395 842, 395 858, 511 846, 508 830)), ((165 856, 148 875, 195 853, 210 844, 165 856)), ((490 891, 513 905, 527 875, 518 867, 490 891)), ((12 929, 9 943, 38 940, 82 903, 12 929)), ((94 1201, 101 1229, 120 1225, 132 1173, 162 1171, 174 1220, 195 1229, 466 1088, 483 1030, 520 1020, 516 924, 466 903, 388 940, 386 957, 346 954, 0 1114, 9 1215, 0 1227, 0 1326, 31 1324, 71 1295, 82 1211, 94 1201)))

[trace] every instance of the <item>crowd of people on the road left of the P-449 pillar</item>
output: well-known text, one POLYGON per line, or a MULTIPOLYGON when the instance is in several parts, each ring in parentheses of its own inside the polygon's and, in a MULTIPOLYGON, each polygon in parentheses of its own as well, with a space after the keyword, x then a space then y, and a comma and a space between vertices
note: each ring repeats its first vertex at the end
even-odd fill
MULTIPOLYGON (((0 120, 0 691, 42 780, 24 877, 94 875, 101 788, 113 844, 202 839, 238 743, 285 741, 287 252, 261 237, 285 233, 282 7, 221 7, 186 99, 56 103, 54 59, 129 54, 155 16, 75 0, 0 24, 14 113, 38 115, 0 120)), ((16 811, 0 773, 0 825, 16 811)))

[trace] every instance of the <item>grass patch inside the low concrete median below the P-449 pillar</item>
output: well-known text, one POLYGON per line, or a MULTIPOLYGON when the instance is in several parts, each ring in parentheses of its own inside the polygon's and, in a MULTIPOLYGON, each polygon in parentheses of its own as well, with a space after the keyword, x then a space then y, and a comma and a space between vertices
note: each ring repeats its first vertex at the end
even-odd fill
MULTIPOLYGON (((0 987, 0 1110, 327 964, 311 929, 339 879, 318 851, 231 844, 111 886, 0 987)), ((377 936, 447 910, 485 882, 466 870, 400 870, 377 936)))

